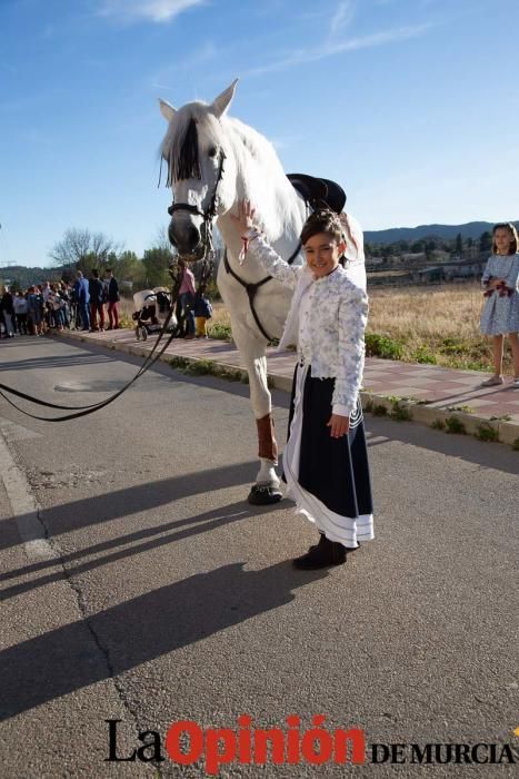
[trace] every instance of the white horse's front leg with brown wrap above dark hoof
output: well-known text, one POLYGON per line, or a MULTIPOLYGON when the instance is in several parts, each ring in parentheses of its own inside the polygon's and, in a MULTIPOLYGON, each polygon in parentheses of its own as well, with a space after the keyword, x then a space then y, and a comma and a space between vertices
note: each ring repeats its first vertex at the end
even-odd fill
POLYGON ((260 470, 248 501, 254 505, 277 503, 281 500, 282 493, 276 473, 278 444, 275 435, 271 397, 267 386, 265 342, 259 341, 249 328, 234 321, 232 322, 232 337, 249 375, 250 400, 258 428, 260 470))

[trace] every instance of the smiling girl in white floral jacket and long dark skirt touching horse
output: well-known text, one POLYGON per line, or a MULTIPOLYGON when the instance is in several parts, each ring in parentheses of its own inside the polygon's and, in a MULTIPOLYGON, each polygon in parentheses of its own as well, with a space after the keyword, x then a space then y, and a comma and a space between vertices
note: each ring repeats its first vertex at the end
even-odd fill
POLYGON ((252 226, 243 203, 236 217, 244 248, 277 280, 295 289, 280 348, 298 344, 283 472, 297 511, 317 525, 319 542, 293 561, 299 569, 346 562, 347 550, 373 538, 371 486, 359 389, 368 298, 340 265, 346 250, 339 217, 315 211, 293 267, 252 226))

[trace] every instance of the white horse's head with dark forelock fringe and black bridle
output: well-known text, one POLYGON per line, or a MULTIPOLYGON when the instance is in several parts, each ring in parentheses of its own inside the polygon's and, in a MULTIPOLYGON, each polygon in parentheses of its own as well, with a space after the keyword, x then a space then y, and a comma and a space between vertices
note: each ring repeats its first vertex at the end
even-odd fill
POLYGON ((173 193, 168 235, 187 259, 203 256, 213 219, 236 199, 236 160, 220 121, 236 83, 209 105, 190 102, 177 110, 160 100, 160 111, 169 122, 161 154, 173 193))

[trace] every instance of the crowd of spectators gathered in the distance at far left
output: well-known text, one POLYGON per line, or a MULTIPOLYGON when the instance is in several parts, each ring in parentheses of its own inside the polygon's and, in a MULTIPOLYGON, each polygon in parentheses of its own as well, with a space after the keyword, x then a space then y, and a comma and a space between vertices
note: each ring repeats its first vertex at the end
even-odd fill
POLYGON ((0 298, 0 337, 43 335, 57 329, 102 332, 119 328, 119 285, 110 268, 100 278, 78 270, 76 282, 43 282, 26 290, 3 287, 0 298), (107 324, 108 322, 108 324, 107 324))

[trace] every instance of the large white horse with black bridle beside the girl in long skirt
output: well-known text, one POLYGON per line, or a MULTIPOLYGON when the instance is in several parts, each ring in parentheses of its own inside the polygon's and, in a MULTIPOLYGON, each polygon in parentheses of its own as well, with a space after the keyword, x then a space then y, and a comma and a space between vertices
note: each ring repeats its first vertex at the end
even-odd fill
MULTIPOLYGON (((190 102, 177 110, 169 102, 159 101, 169 125, 161 147, 173 193, 168 233, 188 259, 203 255, 212 220, 223 238, 227 260, 220 262, 217 284, 249 375, 259 437, 260 470, 249 501, 273 503, 281 499, 281 492, 276 473, 278 448, 267 387, 266 347, 270 338, 281 336, 292 293, 273 279, 263 282, 267 274, 251 257, 240 263, 241 236, 230 215, 237 215, 240 201, 252 203, 269 244, 283 259, 300 265, 305 260, 299 235, 307 205, 287 178, 271 144, 251 127, 226 116, 236 83, 237 80, 209 105, 190 102), (257 284, 252 293, 251 285, 257 284)), ((347 258, 363 273, 362 231, 350 216, 347 226, 347 258)))

